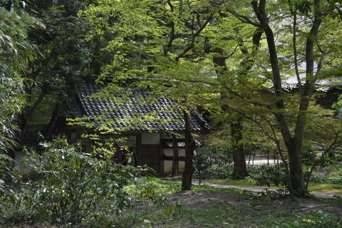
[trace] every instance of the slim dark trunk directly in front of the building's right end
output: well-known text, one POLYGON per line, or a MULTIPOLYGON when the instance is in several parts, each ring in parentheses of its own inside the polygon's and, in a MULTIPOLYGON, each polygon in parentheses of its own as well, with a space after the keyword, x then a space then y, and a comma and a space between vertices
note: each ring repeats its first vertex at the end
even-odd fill
POLYGON ((192 187, 192 174, 195 172, 193 158, 196 145, 191 135, 189 113, 183 111, 183 114, 185 119, 185 170, 182 176, 182 191, 185 191, 191 190, 192 187))

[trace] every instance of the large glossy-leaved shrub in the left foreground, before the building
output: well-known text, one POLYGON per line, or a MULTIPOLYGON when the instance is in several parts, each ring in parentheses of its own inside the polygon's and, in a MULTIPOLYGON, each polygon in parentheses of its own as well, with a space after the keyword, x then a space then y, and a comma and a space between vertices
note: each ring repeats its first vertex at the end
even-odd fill
MULTIPOLYGON (((43 147, 43 156, 33 152, 27 163, 37 177, 21 181, 16 191, 12 191, 11 204, 4 213, 5 222, 106 227, 122 222, 125 213, 137 206, 139 201, 133 200, 125 187, 150 170, 98 160, 84 154, 80 145, 68 145, 63 140, 43 147)), ((146 189, 140 197, 150 197, 152 202, 161 200, 147 195, 151 190, 146 189)))

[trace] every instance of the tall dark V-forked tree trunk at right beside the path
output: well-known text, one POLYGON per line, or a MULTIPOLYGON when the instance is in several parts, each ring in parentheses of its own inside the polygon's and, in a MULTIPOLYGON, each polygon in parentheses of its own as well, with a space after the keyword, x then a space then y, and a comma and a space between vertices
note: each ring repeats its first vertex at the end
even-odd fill
MULTIPOLYGON (((286 121, 286 117, 281 110, 285 110, 284 100, 282 98, 282 84, 281 74, 279 68, 279 62, 276 51, 276 43, 274 40, 274 33, 269 26, 269 19, 266 15, 265 6, 266 0, 252 1, 252 6, 255 14, 257 15, 261 27, 264 29, 266 34, 267 44, 269 46, 269 59, 272 68, 273 75, 273 86, 274 95, 276 98, 276 109, 274 115, 278 122, 282 138, 285 142, 287 152, 289 154, 289 169, 291 186, 293 192, 300 195, 305 194, 305 184, 303 176, 303 164, 302 164, 302 145, 304 140, 304 129, 306 121, 306 111, 309 108, 309 98, 311 97, 312 90, 316 78, 314 76, 314 39, 318 33, 318 29, 321 25, 321 1, 314 0, 314 21, 311 26, 309 35, 306 38, 306 50, 305 50, 305 61, 306 61, 306 83, 301 92, 301 100, 299 104, 299 112, 296 119, 296 127, 294 130, 294 136, 292 137, 289 125, 286 121)), ((319 68, 317 72, 319 71, 319 68)), ((298 83, 301 83, 300 81, 298 83)))

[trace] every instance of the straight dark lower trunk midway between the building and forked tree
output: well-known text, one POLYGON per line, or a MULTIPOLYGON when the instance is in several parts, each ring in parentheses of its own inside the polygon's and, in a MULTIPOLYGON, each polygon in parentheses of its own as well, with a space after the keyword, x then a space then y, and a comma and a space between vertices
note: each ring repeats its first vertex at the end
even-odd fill
POLYGON ((246 156, 244 154, 244 145, 242 143, 242 119, 237 118, 230 124, 232 131, 232 150, 233 150, 233 161, 234 161, 234 179, 243 179, 248 177, 246 156))

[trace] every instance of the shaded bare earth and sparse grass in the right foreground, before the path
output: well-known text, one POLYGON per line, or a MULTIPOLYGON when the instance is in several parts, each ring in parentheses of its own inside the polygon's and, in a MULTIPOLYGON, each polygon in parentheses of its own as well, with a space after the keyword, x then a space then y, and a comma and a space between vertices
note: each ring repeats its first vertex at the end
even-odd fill
POLYGON ((179 214, 154 222, 154 227, 284 227, 313 213, 342 219, 342 200, 256 196, 234 192, 177 192, 170 197, 180 204, 179 214))

